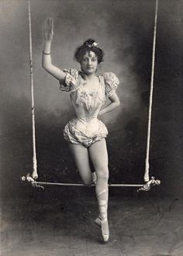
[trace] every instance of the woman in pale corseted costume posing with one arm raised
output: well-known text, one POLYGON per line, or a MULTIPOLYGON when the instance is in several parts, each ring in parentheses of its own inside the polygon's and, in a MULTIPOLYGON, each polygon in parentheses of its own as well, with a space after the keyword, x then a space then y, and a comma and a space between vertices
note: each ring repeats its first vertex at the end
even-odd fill
POLYGON ((98 199, 99 216, 95 224, 102 230, 103 240, 109 240, 108 208, 108 153, 105 137, 108 131, 98 116, 119 106, 116 88, 119 80, 113 73, 96 76, 98 64, 103 61, 103 51, 94 40, 87 40, 78 47, 75 59, 81 71, 60 70, 51 62, 50 47, 54 36, 53 19, 47 20, 44 29, 43 68, 60 81, 60 90, 71 92, 71 102, 76 116, 64 128, 71 154, 85 185, 91 185, 92 175, 89 158, 95 168, 95 192, 98 199), (106 97, 110 104, 101 109, 106 97))

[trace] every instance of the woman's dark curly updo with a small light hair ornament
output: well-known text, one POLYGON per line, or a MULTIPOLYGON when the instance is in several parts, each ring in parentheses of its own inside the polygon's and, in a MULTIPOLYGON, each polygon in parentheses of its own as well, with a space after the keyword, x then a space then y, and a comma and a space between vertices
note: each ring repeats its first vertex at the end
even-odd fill
POLYGON ((103 61, 104 52, 103 50, 98 47, 98 43, 95 42, 93 39, 86 40, 81 47, 78 47, 75 51, 74 58, 76 61, 81 63, 82 57, 85 55, 87 51, 93 51, 97 58, 98 58, 98 64, 103 61))

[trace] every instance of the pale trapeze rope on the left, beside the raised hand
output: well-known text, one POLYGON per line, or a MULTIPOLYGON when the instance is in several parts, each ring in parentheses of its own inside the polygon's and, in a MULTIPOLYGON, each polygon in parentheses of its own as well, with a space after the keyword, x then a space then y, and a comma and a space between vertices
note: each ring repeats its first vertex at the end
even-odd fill
POLYGON ((33 49, 32 49, 31 13, 30 13, 29 0, 28 0, 28 12, 29 12, 29 66, 30 66, 30 87, 31 87, 31 106, 32 106, 32 127, 33 127, 33 178, 37 178, 35 114, 34 114, 34 95, 33 95, 33 49))

